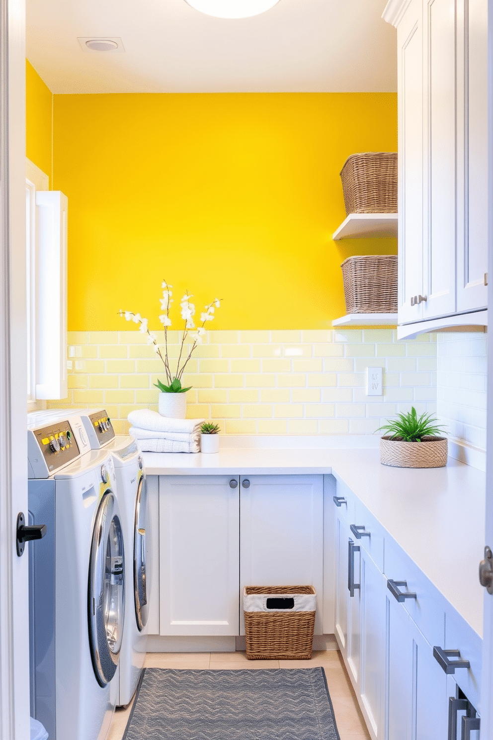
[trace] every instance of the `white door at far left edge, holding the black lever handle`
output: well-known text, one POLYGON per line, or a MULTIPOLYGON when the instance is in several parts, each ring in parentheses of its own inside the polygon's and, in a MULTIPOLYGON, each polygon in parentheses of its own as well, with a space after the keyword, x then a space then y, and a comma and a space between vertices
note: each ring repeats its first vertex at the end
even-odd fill
POLYGON ((0 11, 0 737, 27 740, 28 556, 16 551, 27 516, 24 0, 0 11))

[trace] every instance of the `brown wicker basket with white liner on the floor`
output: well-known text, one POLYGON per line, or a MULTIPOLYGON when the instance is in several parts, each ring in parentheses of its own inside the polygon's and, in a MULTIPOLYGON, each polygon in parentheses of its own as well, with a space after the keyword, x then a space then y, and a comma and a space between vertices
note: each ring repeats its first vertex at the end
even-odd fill
POLYGON ((310 660, 315 627, 316 591, 313 586, 245 586, 246 654, 249 660, 310 660), (292 606, 269 608, 268 602, 292 606))

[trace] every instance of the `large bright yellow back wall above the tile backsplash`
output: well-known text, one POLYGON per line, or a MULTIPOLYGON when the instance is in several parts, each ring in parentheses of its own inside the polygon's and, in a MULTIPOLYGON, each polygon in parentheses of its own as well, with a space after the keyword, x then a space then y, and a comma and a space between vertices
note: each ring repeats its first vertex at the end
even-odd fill
POLYGON ((344 314, 341 261, 396 252, 331 239, 341 166, 395 151, 396 106, 390 93, 55 95, 69 329, 134 329, 120 308, 159 328, 163 277, 178 300, 224 299, 211 329, 330 326, 344 314))

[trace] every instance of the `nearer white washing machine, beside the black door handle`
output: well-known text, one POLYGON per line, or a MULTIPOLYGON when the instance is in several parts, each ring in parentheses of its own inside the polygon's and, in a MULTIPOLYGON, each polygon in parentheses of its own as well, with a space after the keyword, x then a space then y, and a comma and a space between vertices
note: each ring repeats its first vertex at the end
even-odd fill
POLYGON ((70 412, 27 431, 29 518, 47 525, 30 544, 31 714, 50 740, 103 740, 118 700, 125 551, 113 457, 76 426, 70 412))

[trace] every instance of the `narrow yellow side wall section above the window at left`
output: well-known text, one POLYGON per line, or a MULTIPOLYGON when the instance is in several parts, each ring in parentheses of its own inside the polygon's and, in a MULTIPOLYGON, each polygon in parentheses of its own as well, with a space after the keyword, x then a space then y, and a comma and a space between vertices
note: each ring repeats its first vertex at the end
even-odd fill
POLYGON ((26 156, 52 179, 52 92, 26 59, 26 156))

